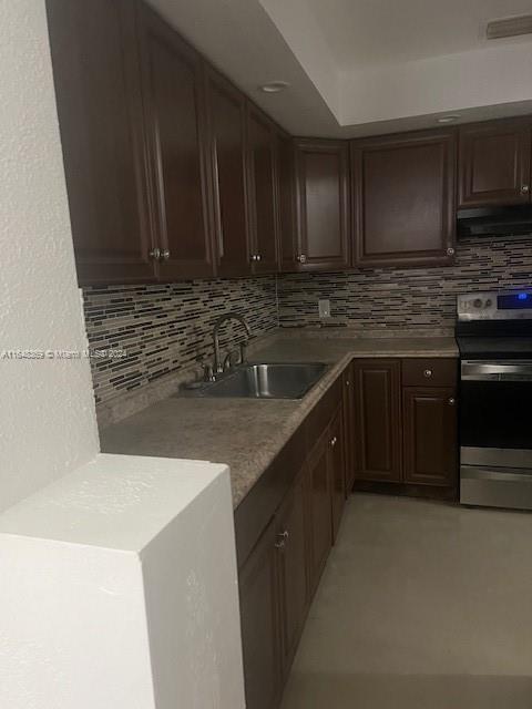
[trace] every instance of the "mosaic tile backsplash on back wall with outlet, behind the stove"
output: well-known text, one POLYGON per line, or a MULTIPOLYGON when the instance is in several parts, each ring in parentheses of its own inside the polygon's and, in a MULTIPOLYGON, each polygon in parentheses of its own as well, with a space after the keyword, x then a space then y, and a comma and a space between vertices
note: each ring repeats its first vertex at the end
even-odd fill
POLYGON ((452 267, 290 274, 278 281, 282 327, 320 325, 318 299, 330 300, 325 322, 354 328, 452 328, 457 295, 532 284, 531 237, 459 242, 452 267))

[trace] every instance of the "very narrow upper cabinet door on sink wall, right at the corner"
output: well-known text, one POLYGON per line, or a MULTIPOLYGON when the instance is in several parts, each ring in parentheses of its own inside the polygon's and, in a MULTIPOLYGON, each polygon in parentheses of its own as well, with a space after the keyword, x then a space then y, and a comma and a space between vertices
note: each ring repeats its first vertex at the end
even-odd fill
POLYGON ((298 261, 296 260, 296 256, 300 251, 296 234, 296 154, 294 140, 288 135, 279 134, 277 138, 277 146, 280 269, 284 271, 294 271, 297 270, 298 261))

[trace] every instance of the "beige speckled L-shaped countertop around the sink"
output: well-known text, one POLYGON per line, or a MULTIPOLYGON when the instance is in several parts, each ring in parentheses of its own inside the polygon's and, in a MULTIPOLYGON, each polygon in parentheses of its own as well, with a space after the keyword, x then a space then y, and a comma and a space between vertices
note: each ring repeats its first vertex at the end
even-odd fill
POLYGON ((252 359, 330 364, 303 399, 171 397, 103 429, 102 452, 227 463, 236 507, 354 357, 458 357, 458 349, 452 337, 279 335, 252 359))

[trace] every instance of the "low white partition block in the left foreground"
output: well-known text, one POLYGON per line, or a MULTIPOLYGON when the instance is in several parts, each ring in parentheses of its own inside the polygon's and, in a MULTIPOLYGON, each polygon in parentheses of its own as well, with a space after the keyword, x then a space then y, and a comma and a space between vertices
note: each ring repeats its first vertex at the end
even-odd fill
POLYGON ((0 516, 0 706, 244 709, 228 470, 100 455, 0 516))

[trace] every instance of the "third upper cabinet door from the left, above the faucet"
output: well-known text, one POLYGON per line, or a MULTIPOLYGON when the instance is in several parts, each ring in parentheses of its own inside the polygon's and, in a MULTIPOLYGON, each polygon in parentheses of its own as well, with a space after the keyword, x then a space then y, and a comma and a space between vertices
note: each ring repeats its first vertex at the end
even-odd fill
POLYGON ((228 81, 207 69, 209 151, 217 273, 250 273, 246 192, 246 101, 228 81))

